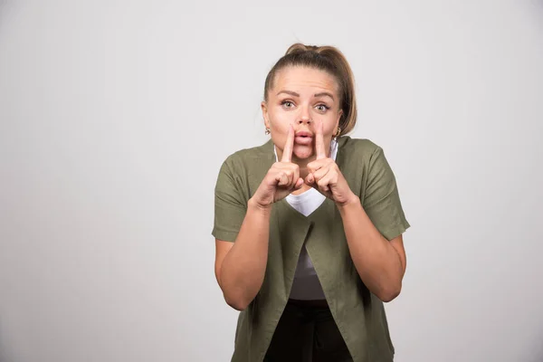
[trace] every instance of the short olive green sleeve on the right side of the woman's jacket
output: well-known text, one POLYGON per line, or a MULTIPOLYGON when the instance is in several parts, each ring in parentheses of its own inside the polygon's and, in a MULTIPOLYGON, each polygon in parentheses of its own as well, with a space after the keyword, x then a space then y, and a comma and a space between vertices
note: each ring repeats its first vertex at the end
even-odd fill
POLYGON ((362 206, 376 229, 392 240, 410 224, 405 219, 395 175, 382 148, 376 147, 369 158, 365 197, 362 206))

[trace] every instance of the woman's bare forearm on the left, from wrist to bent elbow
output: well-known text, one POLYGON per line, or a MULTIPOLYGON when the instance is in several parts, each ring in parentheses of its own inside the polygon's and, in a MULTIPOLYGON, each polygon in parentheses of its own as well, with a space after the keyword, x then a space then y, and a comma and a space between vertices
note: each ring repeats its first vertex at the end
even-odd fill
POLYGON ((247 205, 232 249, 224 257, 220 286, 226 302, 236 310, 244 310, 262 287, 270 237, 271 205, 262 207, 252 200, 247 205))

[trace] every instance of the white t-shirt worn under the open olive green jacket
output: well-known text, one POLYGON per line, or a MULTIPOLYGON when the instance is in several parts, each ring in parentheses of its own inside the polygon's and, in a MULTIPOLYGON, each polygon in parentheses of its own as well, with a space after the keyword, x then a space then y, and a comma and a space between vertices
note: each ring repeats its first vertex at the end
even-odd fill
MULTIPOLYGON (((337 154, 338 142, 335 139, 332 139, 330 143, 330 158, 335 160, 337 154)), ((275 159, 277 160, 277 152, 275 152, 275 159)), ((300 195, 291 194, 285 199, 300 214, 308 216, 324 203, 326 196, 320 194, 319 191, 311 187, 300 195)), ((298 266, 294 273, 290 298, 294 300, 326 299, 322 287, 320 286, 317 271, 315 271, 315 268, 313 267, 310 254, 308 254, 305 244, 301 247, 300 259, 298 259, 298 266)))

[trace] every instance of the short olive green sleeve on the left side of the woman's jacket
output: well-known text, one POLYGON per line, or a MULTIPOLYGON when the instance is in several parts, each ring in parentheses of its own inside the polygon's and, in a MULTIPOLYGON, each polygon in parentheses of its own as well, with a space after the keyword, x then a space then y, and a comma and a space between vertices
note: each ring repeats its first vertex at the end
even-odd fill
POLYGON ((247 200, 241 192, 239 175, 233 171, 232 157, 228 157, 217 177, 214 188, 214 228, 219 240, 235 242, 247 212, 247 200))

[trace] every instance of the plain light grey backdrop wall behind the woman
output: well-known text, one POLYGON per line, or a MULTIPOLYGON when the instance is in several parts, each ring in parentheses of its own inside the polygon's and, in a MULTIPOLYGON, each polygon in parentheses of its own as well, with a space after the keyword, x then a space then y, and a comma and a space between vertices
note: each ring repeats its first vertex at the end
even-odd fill
POLYGON ((214 182, 293 42, 405 213, 398 362, 543 360, 543 2, 0 0, 0 360, 226 361, 214 182))

